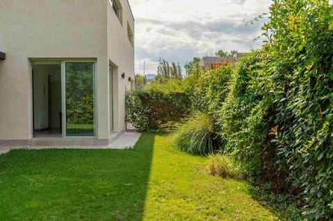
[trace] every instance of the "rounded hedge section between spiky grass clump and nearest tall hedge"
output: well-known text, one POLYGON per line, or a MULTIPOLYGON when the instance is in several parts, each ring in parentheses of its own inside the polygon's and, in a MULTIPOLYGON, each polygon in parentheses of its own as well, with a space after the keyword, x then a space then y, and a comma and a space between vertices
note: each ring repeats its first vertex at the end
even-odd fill
POLYGON ((264 53, 254 51, 242 59, 232 74, 230 93, 216 123, 225 140, 225 150, 244 161, 252 177, 273 175, 274 148, 269 142, 272 98, 270 79, 264 71, 264 53), (266 165, 265 165, 266 164, 266 165), (269 164, 269 166, 268 166, 269 164))

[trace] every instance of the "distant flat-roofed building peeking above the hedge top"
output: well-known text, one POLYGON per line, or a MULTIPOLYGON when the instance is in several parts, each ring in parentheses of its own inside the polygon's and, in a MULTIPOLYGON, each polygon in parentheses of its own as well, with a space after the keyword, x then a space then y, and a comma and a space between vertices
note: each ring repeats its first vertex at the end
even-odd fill
POLYGON ((203 57, 199 61, 199 65, 200 67, 204 67, 205 71, 209 71, 212 69, 217 69, 221 65, 233 64, 248 54, 249 53, 237 53, 234 57, 203 57))

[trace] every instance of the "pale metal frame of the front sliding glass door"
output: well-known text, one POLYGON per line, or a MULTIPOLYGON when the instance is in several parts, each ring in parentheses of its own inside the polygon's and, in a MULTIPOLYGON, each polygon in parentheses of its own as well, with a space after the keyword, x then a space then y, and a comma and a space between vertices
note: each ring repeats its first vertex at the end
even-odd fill
POLYGON ((62 99, 62 135, 61 138, 44 138, 43 139, 96 139, 97 138, 97 133, 98 133, 98 109, 97 109, 97 62, 96 59, 91 59, 91 58, 80 58, 80 59, 50 59, 50 58, 31 58, 30 64, 30 77, 31 77, 31 134, 32 137, 34 137, 34 118, 35 118, 35 112, 34 112, 34 103, 33 103, 33 65, 38 65, 38 64, 60 64, 60 69, 61 69, 61 99, 62 99), (94 136, 66 136, 66 71, 65 71, 65 64, 66 62, 77 62, 77 63, 93 63, 94 64, 94 78, 93 78, 93 97, 94 97, 94 136))

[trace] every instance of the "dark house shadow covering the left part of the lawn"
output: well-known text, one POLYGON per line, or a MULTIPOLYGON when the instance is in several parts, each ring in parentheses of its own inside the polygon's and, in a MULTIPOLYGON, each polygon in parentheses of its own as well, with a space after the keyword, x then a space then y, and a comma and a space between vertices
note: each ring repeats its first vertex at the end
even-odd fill
POLYGON ((155 134, 133 150, 13 150, 0 157, 0 220, 142 220, 155 134))

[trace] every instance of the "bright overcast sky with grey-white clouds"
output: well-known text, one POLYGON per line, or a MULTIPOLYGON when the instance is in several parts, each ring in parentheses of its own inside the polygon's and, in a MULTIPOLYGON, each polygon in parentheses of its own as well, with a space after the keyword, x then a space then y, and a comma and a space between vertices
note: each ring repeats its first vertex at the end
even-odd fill
MULTIPOLYGON (((270 0, 129 0, 135 17, 135 73, 156 73, 161 57, 185 62, 215 51, 248 52, 259 48, 262 19, 270 0)), ((183 69, 185 73, 185 69, 183 69)))

